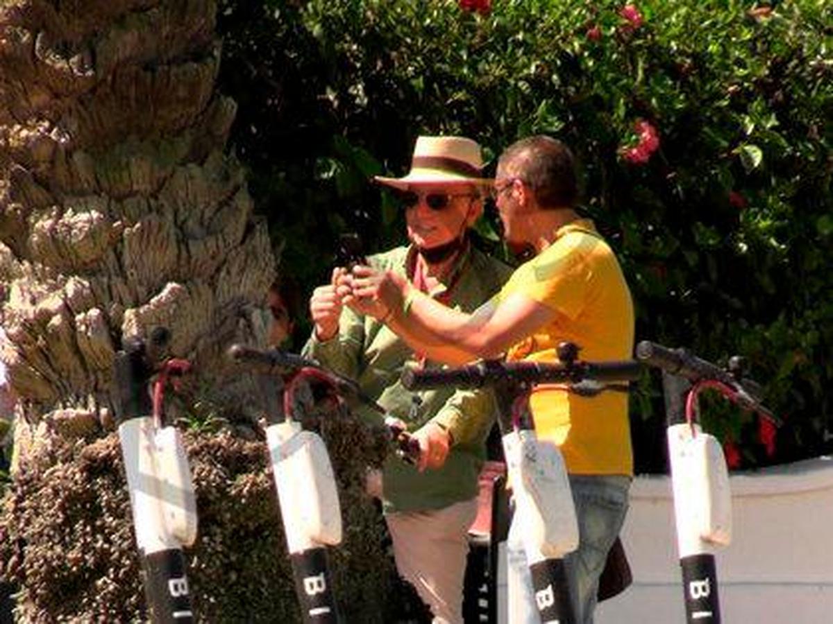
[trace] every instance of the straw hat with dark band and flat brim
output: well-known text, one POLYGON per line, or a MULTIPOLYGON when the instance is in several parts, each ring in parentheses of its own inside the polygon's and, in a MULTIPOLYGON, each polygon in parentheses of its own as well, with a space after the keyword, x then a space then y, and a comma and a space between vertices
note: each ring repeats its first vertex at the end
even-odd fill
POLYGON ((463 136, 420 136, 407 176, 374 176, 373 180, 402 191, 416 184, 491 184, 491 179, 482 177, 482 169, 483 156, 476 141, 463 136))

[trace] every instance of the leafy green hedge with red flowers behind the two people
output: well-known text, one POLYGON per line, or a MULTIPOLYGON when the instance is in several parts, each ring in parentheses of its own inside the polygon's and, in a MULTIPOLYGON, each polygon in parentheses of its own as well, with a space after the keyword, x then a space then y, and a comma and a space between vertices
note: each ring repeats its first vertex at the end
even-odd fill
MULTIPOLYGON (((492 159, 557 136, 621 257, 637 337, 750 360, 786 426, 770 458, 726 412, 747 465, 819 453, 833 413, 833 7, 646 0, 637 26, 623 4, 222 2, 232 140, 284 270, 326 280, 338 230, 372 249, 401 240, 367 178, 407 171, 419 134, 471 136, 492 159), (660 145, 631 163, 640 120, 660 145)), ((664 469, 642 443, 661 427, 656 385, 633 411, 638 465, 664 469)))

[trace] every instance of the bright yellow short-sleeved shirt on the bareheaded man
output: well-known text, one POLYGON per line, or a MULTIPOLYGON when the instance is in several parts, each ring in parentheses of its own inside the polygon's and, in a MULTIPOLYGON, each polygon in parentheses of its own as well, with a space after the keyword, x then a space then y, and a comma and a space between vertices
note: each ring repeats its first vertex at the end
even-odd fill
MULTIPOLYGON (((631 291, 591 220, 559 228, 552 245, 521 265, 496 299, 513 293, 546 305, 556 317, 514 345, 506 359, 556 362, 556 346, 565 340, 581 347, 579 359, 631 359, 631 291)), ((530 404, 538 437, 561 448, 569 473, 633 473, 626 393, 581 397, 557 385, 540 385, 530 404)))

